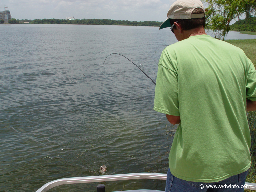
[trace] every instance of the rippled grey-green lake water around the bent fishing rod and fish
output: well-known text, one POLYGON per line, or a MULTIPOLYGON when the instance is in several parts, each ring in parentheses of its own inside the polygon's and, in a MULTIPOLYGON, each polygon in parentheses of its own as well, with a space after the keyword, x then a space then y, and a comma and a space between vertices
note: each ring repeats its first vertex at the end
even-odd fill
MULTIPOLYGON (((67 177, 166 173, 175 127, 153 110, 158 27, 2 24, 0 192, 36 191, 67 177)), ((211 34, 212 35, 212 34, 211 34)), ((253 35, 230 32, 227 39, 253 35)), ((96 191, 99 183, 49 191, 96 191)), ((165 181, 103 183, 107 191, 164 190, 165 181)))

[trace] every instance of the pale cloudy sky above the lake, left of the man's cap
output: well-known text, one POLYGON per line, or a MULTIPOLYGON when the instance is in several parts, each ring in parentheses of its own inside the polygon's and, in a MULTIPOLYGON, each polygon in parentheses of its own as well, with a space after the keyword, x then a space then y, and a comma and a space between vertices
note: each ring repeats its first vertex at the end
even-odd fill
POLYGON ((15 19, 164 21, 175 0, 0 0, 15 19))

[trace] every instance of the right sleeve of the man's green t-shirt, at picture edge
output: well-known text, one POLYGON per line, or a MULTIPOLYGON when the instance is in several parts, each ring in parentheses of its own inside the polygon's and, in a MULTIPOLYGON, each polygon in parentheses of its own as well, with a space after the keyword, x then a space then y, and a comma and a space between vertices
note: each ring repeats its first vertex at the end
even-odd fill
POLYGON ((248 59, 249 67, 248 67, 248 75, 246 82, 246 98, 251 101, 256 101, 256 70, 251 62, 248 59))

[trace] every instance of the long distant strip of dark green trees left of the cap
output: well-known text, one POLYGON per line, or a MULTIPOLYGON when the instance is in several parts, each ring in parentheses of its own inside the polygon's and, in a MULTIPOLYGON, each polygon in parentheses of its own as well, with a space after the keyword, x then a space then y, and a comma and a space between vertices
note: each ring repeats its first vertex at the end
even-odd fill
MULTIPOLYGON (((22 21, 22 20, 20 20, 22 21)), ((34 19, 32 24, 81 24, 81 25, 133 25, 133 26, 159 26, 161 22, 157 21, 128 21, 111 19, 34 19)))

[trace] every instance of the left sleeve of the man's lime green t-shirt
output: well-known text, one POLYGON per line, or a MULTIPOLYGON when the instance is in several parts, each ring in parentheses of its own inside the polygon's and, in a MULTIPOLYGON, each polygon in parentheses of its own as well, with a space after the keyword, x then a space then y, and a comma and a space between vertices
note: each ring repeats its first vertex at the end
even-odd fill
POLYGON ((178 75, 172 67, 168 54, 165 54, 164 51, 158 64, 154 110, 168 115, 180 116, 178 75))

